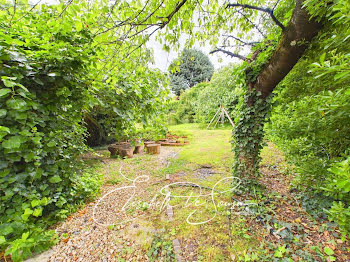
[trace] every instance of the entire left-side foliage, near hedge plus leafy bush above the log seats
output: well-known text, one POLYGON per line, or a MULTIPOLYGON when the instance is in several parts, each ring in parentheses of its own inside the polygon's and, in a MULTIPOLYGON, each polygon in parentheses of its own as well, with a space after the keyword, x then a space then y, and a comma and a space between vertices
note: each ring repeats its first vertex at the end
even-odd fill
POLYGON ((101 44, 96 25, 108 9, 94 4, 27 12, 21 2, 11 15, 1 5, 0 247, 15 261, 47 248, 45 230, 98 192, 100 175, 77 159, 87 116, 115 137, 159 122, 166 78, 148 69, 148 50, 116 55, 101 44))

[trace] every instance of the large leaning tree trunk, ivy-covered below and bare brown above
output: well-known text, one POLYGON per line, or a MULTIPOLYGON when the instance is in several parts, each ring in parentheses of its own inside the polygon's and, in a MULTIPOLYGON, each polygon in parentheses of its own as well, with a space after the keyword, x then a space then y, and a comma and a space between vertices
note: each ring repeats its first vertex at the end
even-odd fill
POLYGON ((310 19, 302 8, 302 0, 296 6, 288 26, 270 60, 259 72, 256 81, 248 82, 248 92, 240 121, 233 132, 235 138, 235 171, 245 178, 255 178, 260 162, 263 126, 269 112, 268 98, 274 88, 292 70, 321 29, 321 24, 310 19))

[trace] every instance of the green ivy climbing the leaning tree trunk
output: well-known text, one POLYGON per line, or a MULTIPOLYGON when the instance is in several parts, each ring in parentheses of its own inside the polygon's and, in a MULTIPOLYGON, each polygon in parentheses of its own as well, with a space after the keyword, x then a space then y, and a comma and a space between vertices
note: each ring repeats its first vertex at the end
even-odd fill
POLYGON ((237 111, 236 125, 233 130, 233 148, 235 152, 234 172, 236 176, 253 179, 258 175, 260 150, 263 147, 264 124, 271 108, 271 95, 263 97, 260 91, 251 88, 251 84, 273 54, 277 40, 266 40, 257 45, 249 60, 241 66, 237 74, 237 85, 246 91, 237 111), (253 60, 254 59, 254 60, 253 60))

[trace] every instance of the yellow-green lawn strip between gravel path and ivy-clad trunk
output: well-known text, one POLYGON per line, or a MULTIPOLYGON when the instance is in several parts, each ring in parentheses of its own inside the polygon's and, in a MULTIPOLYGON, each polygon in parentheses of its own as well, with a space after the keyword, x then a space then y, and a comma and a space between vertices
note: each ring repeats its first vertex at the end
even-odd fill
MULTIPOLYGON (((186 135, 190 144, 181 148, 179 157, 170 162, 169 167, 162 170, 164 173, 176 174, 182 172, 181 181, 190 181, 201 186, 213 187, 217 181, 232 175, 233 152, 231 149, 232 127, 223 127, 215 130, 207 130, 206 127, 198 124, 182 124, 170 126, 169 132, 176 135, 186 135), (209 165, 216 174, 203 178, 198 178, 196 169, 201 165, 209 165)), ((230 187, 228 183, 221 183, 219 190, 224 191, 230 187)), ((175 195, 198 195, 199 190, 195 188, 173 188, 175 195)), ((210 193, 206 190, 202 194, 210 193)), ((230 202, 228 195, 216 196, 217 201, 230 202)), ((176 228, 176 236, 183 242, 199 242, 197 246, 197 261, 228 261, 232 254, 238 255, 240 251, 248 250, 252 245, 256 245, 254 237, 247 239, 247 234, 237 225, 237 232, 233 232, 234 243, 230 242, 229 227, 227 224, 226 208, 218 207, 215 212, 210 197, 201 197, 200 202, 204 203, 195 206, 195 199, 188 204, 186 199, 173 199, 170 204, 177 205, 174 208, 174 220, 163 223, 163 226, 170 231, 176 228), (186 202, 186 203, 185 203, 186 202), (187 205, 187 207, 185 207, 187 205), (196 211, 193 219, 196 221, 206 221, 215 213, 213 221, 203 225, 190 225, 186 223, 187 217, 196 211), (240 230, 238 230, 240 229, 240 230), (241 232, 242 231, 242 232, 241 232)))

